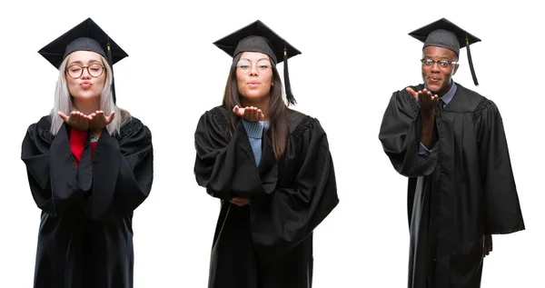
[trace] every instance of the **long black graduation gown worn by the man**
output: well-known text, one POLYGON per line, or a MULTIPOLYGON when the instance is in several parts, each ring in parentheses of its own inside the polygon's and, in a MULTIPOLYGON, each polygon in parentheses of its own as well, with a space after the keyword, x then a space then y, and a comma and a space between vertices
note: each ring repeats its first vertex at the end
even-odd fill
POLYGON ((457 85, 451 103, 436 109, 435 144, 420 167, 420 104, 395 92, 382 119, 384 152, 409 177, 409 287, 480 287, 484 234, 524 229, 500 112, 457 85))

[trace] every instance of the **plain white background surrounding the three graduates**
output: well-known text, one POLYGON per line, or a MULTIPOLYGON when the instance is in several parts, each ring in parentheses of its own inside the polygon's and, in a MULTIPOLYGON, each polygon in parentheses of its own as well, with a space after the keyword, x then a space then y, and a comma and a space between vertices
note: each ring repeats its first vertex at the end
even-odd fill
POLYGON ((471 45, 481 85, 465 49, 454 79, 500 108, 527 227, 494 237, 482 287, 544 287, 545 21, 535 4, 500 2, 3 2, 0 287, 34 278, 40 211, 21 142, 53 106, 57 78, 36 52, 88 16, 130 55, 114 67, 117 104, 154 136, 152 194, 134 214, 134 287, 206 286, 220 203, 195 183, 193 132, 221 104, 231 65, 213 41, 257 19, 302 51, 290 60, 296 109, 320 119, 331 145, 341 203, 315 230, 314 287, 406 286, 406 179, 378 134, 391 93, 421 83, 421 43, 407 34, 441 17, 482 39, 471 45))

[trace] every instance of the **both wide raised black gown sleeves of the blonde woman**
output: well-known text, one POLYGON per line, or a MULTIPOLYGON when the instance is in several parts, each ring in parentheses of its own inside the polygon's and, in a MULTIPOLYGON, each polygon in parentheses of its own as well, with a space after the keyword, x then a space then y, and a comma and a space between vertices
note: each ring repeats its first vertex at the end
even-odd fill
POLYGON ((87 142, 79 165, 66 127, 55 136, 48 129, 33 124, 23 141, 22 160, 38 207, 56 216, 80 204, 89 219, 110 221, 144 202, 153 182, 153 147, 149 129, 138 119, 124 124, 119 137, 104 129, 93 157, 87 142))

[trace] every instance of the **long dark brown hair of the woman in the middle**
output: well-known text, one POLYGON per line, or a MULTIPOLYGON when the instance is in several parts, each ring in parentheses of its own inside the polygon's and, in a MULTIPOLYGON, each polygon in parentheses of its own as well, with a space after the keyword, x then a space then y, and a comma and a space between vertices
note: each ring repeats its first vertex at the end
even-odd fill
MULTIPOLYGON (((236 83, 236 64, 241 59, 242 54, 234 57, 233 65, 227 78, 227 84, 225 85, 225 94, 223 94, 223 107, 227 111, 233 111, 235 105, 241 107, 241 94, 239 94, 238 86, 236 83)), ((271 61, 272 63, 272 61, 271 61)), ((267 135, 271 138, 272 150, 276 159, 280 159, 286 150, 286 144, 288 141, 288 107, 282 99, 282 80, 280 74, 276 69, 276 65, 272 65, 272 81, 273 85, 269 93, 269 107, 268 116, 270 121, 269 130, 267 135)), ((240 121, 240 117, 232 113, 230 133, 233 134, 234 127, 240 121)))

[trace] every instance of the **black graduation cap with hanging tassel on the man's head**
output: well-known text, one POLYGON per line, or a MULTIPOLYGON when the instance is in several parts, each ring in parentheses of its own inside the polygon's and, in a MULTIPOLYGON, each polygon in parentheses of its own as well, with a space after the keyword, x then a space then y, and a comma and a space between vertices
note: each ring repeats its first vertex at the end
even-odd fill
POLYGON ((481 39, 471 35, 445 18, 416 29, 409 35, 423 42, 424 48, 427 46, 440 46, 454 51, 456 55, 460 55, 460 48, 466 47, 473 83, 477 86, 479 85, 473 68, 473 61, 471 60, 470 45, 480 42, 481 39))

